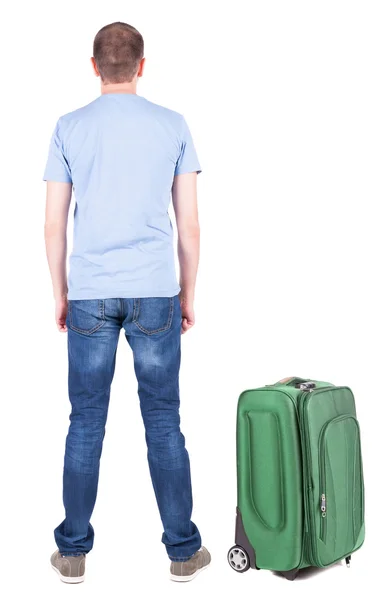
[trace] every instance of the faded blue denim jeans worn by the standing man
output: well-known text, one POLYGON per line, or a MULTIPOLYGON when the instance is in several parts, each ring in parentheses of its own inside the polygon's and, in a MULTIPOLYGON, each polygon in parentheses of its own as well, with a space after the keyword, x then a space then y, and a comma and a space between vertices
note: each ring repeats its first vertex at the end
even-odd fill
POLYGON ((172 560, 187 560, 199 550, 201 539, 191 521, 190 464, 179 428, 178 297, 71 300, 67 325, 72 411, 64 461, 65 520, 54 532, 59 551, 76 555, 93 546, 90 518, 123 328, 134 355, 162 541, 172 560))

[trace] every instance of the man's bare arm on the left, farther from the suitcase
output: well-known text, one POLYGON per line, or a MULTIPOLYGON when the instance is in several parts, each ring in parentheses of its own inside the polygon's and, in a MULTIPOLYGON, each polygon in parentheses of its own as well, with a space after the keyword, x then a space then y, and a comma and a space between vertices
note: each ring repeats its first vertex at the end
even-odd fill
POLYGON ((67 331, 66 229, 71 197, 71 183, 47 182, 45 247, 56 303, 56 324, 61 332, 67 331))

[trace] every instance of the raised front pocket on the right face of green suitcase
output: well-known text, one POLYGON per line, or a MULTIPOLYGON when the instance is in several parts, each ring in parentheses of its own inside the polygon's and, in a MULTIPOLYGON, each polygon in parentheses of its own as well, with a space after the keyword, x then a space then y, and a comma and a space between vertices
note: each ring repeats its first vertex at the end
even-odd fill
POLYGON ((352 415, 324 425, 319 437, 319 537, 325 563, 351 553, 363 524, 360 433, 352 415))

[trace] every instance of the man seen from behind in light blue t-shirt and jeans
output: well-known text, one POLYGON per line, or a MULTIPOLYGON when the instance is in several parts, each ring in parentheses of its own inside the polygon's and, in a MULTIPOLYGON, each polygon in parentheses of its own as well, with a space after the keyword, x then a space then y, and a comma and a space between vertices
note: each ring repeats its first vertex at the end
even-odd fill
POLYGON ((65 520, 51 563, 84 580, 90 524, 120 329, 133 351, 148 461, 175 581, 210 563, 191 521, 190 466, 179 428, 180 337, 195 322, 200 166, 185 120, 136 94, 143 39, 125 23, 103 27, 91 59, 101 96, 61 117, 51 140, 45 239, 59 331, 68 332, 72 405, 64 461, 65 520), (66 277, 66 227, 75 190, 66 277), (176 281, 172 193, 179 234, 176 281))

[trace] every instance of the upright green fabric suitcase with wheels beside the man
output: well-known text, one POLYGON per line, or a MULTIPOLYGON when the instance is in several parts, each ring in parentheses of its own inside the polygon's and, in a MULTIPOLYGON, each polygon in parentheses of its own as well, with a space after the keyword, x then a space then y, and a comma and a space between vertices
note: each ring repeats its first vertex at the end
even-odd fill
POLYGON ((243 392, 237 410, 237 514, 228 562, 295 579, 365 537, 359 424, 348 387, 287 378, 243 392))

